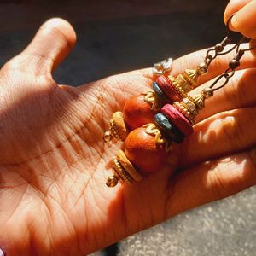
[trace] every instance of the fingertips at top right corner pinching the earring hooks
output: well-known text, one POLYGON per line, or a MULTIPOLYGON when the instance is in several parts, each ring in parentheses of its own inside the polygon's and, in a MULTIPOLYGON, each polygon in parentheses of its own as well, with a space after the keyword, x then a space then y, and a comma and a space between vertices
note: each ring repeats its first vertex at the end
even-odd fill
MULTIPOLYGON (((224 12, 224 22, 231 15, 230 29, 241 32, 244 36, 256 39, 256 0, 230 0, 224 12)), ((251 41, 251 47, 256 46, 256 40, 251 41)), ((256 56, 256 49, 252 50, 256 56)))

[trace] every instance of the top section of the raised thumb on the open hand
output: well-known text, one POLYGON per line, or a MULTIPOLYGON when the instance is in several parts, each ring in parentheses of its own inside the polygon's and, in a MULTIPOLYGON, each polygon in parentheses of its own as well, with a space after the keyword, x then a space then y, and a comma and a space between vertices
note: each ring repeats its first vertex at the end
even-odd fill
POLYGON ((76 34, 73 27, 60 18, 47 20, 27 48, 20 54, 34 67, 51 72, 73 49, 76 34))

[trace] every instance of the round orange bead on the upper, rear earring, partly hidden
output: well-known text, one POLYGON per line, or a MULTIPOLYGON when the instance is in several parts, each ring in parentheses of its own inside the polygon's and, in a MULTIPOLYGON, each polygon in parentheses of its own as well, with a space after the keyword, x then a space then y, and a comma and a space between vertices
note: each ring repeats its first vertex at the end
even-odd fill
POLYGON ((147 102, 144 102, 144 96, 131 96, 125 103, 123 114, 125 124, 131 130, 154 123, 155 112, 147 102))

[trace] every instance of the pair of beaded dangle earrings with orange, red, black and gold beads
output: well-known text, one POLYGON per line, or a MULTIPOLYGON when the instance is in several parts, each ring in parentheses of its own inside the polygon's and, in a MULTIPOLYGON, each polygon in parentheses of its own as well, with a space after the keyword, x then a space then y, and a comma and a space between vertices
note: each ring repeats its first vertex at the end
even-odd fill
MULTIPOLYGON (((172 58, 154 64, 153 73, 157 79, 153 90, 139 96, 131 96, 123 112, 113 113, 110 128, 104 134, 108 142, 112 137, 125 142, 125 150, 119 150, 113 160, 114 174, 107 179, 107 186, 114 187, 119 180, 125 183, 140 181, 143 173, 158 172, 170 160, 172 143, 183 143, 193 133, 195 116, 205 107, 205 100, 215 90, 224 87, 234 75, 245 51, 240 49, 240 40, 229 50, 224 50, 232 41, 227 22, 227 36, 222 42, 207 50, 205 60, 196 69, 186 69, 176 78, 166 75, 172 70, 172 58), (190 94, 201 75, 208 71, 212 61, 236 49, 227 70, 199 94, 190 94)), ((172 155, 171 155, 172 158, 172 155)))

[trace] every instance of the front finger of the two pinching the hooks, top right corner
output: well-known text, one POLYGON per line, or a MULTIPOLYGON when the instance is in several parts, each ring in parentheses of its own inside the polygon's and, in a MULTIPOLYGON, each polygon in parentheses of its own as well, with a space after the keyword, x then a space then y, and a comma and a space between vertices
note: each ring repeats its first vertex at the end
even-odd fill
POLYGON ((256 39, 256 0, 243 6, 230 20, 234 30, 241 32, 247 38, 256 39))

